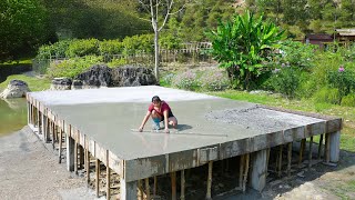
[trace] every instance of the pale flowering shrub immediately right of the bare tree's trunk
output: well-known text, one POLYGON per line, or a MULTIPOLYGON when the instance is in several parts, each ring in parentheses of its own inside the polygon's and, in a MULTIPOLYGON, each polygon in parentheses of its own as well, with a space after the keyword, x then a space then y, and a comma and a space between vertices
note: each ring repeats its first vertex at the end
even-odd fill
POLYGON ((186 72, 178 74, 172 81, 172 87, 179 89, 195 90, 200 86, 196 78, 196 73, 189 70, 186 72))

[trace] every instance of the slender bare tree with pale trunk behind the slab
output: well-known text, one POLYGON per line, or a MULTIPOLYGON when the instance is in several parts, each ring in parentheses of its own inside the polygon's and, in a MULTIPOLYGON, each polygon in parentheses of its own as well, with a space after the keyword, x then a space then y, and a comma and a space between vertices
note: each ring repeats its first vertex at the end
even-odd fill
POLYGON ((172 12, 174 0, 139 0, 139 2, 151 16, 150 21, 154 30, 154 73, 156 81, 159 81, 159 33, 164 28, 169 17, 179 13, 186 2, 183 1, 180 9, 174 12, 172 12))

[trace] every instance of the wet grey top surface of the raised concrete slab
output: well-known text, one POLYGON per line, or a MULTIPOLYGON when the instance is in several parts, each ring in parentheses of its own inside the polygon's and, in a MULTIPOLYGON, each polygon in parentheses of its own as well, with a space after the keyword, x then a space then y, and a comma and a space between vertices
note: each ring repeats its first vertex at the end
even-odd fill
MULTIPOLYGON (((268 132, 324 122, 322 119, 258 108, 190 91, 161 87, 32 92, 60 119, 72 124, 120 159, 133 160, 268 132), (179 120, 172 133, 134 132, 151 98, 160 96, 179 120)), ((144 130, 151 130, 151 120, 144 130)))

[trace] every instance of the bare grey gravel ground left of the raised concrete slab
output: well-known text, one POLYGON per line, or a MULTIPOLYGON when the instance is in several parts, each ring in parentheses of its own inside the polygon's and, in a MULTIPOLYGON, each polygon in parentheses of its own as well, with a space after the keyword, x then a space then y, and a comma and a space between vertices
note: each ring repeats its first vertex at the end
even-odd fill
POLYGON ((0 199, 94 199, 29 128, 0 138, 0 199))

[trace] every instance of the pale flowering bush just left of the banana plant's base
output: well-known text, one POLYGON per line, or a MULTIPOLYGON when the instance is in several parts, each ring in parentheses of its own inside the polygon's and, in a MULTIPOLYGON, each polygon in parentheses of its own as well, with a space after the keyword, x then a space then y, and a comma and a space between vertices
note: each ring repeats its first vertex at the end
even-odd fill
POLYGON ((206 91, 221 91, 230 86, 227 77, 222 71, 207 70, 201 74, 201 88, 206 91))

